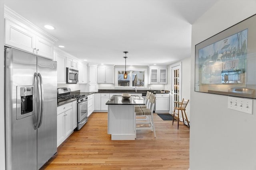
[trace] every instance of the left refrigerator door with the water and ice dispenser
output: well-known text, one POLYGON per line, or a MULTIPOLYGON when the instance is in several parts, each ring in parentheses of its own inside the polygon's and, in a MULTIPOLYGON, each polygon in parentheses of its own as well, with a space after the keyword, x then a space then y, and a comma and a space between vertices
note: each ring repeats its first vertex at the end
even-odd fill
POLYGON ((7 170, 36 169, 35 72, 36 56, 15 49, 5 49, 7 170), (26 100, 33 106, 29 106, 26 100))

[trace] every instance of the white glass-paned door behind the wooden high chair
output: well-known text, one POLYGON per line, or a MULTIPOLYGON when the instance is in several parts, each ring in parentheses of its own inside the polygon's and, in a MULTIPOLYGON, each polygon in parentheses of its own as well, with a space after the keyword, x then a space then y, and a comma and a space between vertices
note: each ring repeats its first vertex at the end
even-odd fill
POLYGON ((171 110, 173 111, 174 102, 181 101, 181 63, 171 69, 171 110))

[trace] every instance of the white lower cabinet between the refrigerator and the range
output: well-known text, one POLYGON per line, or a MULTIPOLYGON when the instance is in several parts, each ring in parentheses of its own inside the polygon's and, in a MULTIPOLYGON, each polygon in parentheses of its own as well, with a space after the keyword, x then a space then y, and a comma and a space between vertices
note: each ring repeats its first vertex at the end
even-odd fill
POLYGON ((57 147, 73 133, 72 102, 57 107, 57 147))

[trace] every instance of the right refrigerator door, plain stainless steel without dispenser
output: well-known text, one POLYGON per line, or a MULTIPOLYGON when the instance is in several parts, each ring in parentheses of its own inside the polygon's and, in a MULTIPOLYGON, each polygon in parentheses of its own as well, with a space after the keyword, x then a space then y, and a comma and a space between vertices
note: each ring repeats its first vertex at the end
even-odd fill
POLYGON ((57 62, 37 57, 42 87, 42 115, 37 129, 37 169, 57 152, 57 62))

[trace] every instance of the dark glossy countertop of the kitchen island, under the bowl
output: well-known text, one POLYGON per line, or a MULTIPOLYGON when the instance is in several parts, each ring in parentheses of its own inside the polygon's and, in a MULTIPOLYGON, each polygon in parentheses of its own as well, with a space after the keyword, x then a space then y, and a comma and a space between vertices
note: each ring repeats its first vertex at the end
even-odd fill
POLYGON ((106 105, 145 105, 143 98, 138 96, 131 96, 129 99, 122 98, 121 95, 113 95, 106 105))

